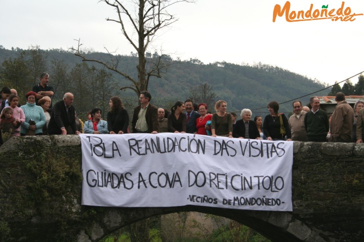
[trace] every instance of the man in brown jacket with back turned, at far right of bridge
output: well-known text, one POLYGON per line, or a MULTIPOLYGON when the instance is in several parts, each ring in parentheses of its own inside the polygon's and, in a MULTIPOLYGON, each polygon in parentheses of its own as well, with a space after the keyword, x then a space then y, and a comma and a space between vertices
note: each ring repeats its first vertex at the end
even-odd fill
POLYGON ((352 123, 354 110, 345 101, 345 94, 337 92, 335 96, 336 108, 331 116, 330 133, 331 142, 351 142, 352 123))

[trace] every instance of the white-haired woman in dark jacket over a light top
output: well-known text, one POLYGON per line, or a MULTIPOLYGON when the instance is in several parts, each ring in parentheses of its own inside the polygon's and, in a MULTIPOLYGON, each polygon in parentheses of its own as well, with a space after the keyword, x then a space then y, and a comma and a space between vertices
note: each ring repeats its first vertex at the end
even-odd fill
POLYGON ((240 113, 241 119, 237 120, 232 131, 232 137, 240 139, 260 139, 258 128, 254 121, 250 120, 251 110, 244 108, 240 113))

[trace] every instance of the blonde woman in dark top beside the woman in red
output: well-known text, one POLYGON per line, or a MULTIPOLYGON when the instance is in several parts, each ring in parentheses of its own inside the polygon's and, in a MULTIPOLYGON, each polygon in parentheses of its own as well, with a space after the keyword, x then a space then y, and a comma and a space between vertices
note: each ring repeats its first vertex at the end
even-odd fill
POLYGON ((230 113, 226 113, 227 103, 218 100, 215 103, 216 113, 211 118, 212 137, 225 136, 232 138, 232 118, 230 113))

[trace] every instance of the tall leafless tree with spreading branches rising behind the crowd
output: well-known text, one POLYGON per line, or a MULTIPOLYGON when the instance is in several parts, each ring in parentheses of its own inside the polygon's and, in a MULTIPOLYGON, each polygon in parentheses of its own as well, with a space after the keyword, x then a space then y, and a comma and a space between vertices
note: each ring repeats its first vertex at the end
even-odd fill
POLYGON ((161 73, 166 69, 168 64, 160 54, 158 58, 151 58, 155 60, 153 64, 147 68, 147 58, 145 56, 146 50, 150 42, 156 36, 159 29, 165 28, 175 22, 177 19, 174 15, 170 14, 167 9, 178 2, 194 2, 194 0, 135 0, 135 1, 121 1, 121 0, 100 0, 115 8, 117 17, 106 18, 107 21, 113 21, 121 26, 121 31, 128 42, 134 47, 138 56, 138 64, 136 65, 138 78, 135 79, 127 73, 118 68, 119 57, 110 54, 110 61, 101 61, 97 59, 89 59, 81 50, 81 43, 78 39, 77 48, 71 48, 75 55, 82 58, 83 61, 94 61, 104 65, 106 68, 124 76, 131 82, 130 86, 121 87, 121 89, 131 89, 137 96, 140 92, 147 90, 149 78, 151 76, 161 77, 161 73), (130 24, 132 30, 128 31, 125 24, 130 24), (133 33, 136 33, 136 38, 133 38, 133 33))

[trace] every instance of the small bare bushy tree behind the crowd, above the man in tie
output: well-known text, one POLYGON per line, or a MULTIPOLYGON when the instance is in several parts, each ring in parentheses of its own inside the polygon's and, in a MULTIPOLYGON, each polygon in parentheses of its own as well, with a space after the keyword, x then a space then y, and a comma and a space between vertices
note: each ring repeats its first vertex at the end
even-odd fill
POLYGON ((189 89, 189 97, 194 103, 205 103, 207 104, 208 110, 213 110, 216 94, 212 91, 212 87, 207 83, 189 89))

